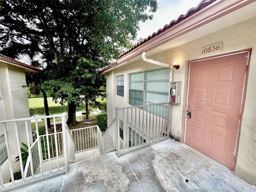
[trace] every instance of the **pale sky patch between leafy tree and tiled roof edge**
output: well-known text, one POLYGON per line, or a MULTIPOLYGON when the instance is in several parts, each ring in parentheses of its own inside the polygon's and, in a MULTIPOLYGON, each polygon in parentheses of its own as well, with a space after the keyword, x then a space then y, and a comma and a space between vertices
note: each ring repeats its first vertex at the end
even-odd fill
POLYGON ((172 20, 186 14, 191 7, 196 7, 202 0, 158 0, 158 9, 153 13, 153 20, 140 22, 137 38, 146 38, 172 20))

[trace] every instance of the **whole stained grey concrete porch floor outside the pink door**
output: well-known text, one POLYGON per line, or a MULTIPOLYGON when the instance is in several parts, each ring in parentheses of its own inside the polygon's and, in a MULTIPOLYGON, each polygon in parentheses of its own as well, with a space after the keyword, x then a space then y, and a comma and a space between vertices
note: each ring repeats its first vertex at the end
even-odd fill
POLYGON ((74 163, 17 191, 256 191, 227 167, 171 139, 74 163))

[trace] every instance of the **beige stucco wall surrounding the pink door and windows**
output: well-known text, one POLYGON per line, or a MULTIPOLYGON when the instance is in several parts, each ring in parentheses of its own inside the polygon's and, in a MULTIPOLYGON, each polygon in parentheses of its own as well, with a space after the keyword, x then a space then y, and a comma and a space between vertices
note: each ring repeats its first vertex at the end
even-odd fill
MULTIPOLYGON (((188 61, 205 57, 205 55, 201 56, 201 48, 219 42, 222 42, 222 51, 217 54, 252 48, 235 174, 256 185, 256 18, 222 29, 174 49, 158 53, 150 57, 150 59, 169 64, 173 62, 180 64, 180 69, 174 71, 173 81, 182 82, 181 101, 179 105, 173 105, 172 107, 171 135, 173 138, 183 142, 188 61)), ((159 66, 140 60, 131 62, 107 74, 108 119, 114 118, 115 107, 128 106, 128 74, 154 68, 159 68, 159 66), (124 97, 116 95, 116 78, 113 78, 113 76, 122 74, 124 75, 124 97)), ((108 123, 110 123, 109 120, 108 123)))

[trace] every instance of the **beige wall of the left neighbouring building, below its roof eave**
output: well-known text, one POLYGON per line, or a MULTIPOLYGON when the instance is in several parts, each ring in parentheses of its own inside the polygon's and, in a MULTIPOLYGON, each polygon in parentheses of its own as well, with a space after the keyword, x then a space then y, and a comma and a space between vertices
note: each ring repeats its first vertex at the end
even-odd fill
MULTIPOLYGON (((0 120, 30 117, 27 90, 23 89, 22 85, 26 85, 25 70, 0 62, 0 120)), ((27 143, 25 123, 18 122, 17 127, 20 143, 27 143)), ((0 135, 4 134, 3 128, 2 125, 0 135)), ((30 122, 28 122, 28 130, 30 143, 32 143, 30 122)), ((15 157, 18 156, 18 148, 13 123, 7 123, 7 135, 13 172, 16 172, 20 170, 20 166, 19 162, 15 162, 15 157)), ((1 166, 4 182, 10 181, 8 161, 1 166)))

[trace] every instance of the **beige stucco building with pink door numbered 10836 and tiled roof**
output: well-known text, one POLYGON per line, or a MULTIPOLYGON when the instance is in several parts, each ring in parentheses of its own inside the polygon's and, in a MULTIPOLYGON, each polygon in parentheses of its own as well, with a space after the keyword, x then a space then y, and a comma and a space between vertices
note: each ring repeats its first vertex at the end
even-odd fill
POLYGON ((170 137, 256 185, 255 10, 202 1, 120 55, 101 71, 108 125, 116 108, 170 102, 170 137))

